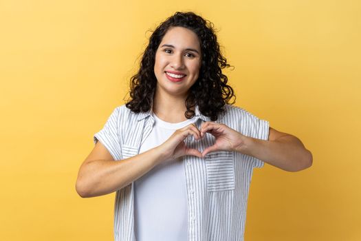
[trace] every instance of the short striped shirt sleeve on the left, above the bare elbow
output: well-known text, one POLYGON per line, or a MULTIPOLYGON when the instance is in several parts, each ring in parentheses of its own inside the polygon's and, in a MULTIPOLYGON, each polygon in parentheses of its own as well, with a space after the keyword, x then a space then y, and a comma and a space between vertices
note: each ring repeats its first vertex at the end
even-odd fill
POLYGON ((113 110, 113 113, 109 116, 107 123, 100 130, 100 132, 94 134, 94 143, 98 140, 104 145, 114 160, 120 160, 122 157, 121 143, 120 143, 120 132, 119 132, 119 121, 120 121, 120 107, 113 110))

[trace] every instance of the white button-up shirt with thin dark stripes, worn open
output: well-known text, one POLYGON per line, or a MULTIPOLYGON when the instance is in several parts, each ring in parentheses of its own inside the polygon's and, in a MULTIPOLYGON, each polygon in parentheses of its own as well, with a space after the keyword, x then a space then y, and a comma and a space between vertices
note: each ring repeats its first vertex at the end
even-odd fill
MULTIPOLYGON (((269 123, 239 107, 226 105, 216 123, 223 123, 252 138, 268 139, 269 123)), ((210 118, 195 108, 195 124, 200 128, 210 118)), ((109 117, 105 127, 94 136, 109 150, 114 160, 122 160, 139 153, 140 145, 149 135, 154 118, 149 112, 136 114, 122 105, 109 117)), ((186 138, 190 148, 203 151, 215 143, 215 137, 206 134, 195 141, 186 138)), ((184 156, 188 202, 188 240, 241 240, 245 228, 248 191, 254 167, 263 167, 263 161, 234 151, 217 151, 206 158, 184 156)), ((116 192, 114 208, 114 238, 116 241, 134 241, 134 187, 133 182, 116 192)), ((166 227, 165 227, 166 228, 166 227)))

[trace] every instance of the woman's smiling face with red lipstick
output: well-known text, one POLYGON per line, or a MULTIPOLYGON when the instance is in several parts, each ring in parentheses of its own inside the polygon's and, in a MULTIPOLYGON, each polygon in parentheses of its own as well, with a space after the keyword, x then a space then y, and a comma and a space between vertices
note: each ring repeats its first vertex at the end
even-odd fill
POLYGON ((197 34, 182 27, 170 28, 155 53, 156 94, 186 97, 197 81, 201 48, 197 34))

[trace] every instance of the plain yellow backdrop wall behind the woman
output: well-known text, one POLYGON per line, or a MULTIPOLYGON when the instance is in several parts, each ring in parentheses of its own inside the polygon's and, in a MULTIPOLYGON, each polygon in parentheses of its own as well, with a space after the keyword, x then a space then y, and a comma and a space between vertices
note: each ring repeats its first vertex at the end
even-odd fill
POLYGON ((356 0, 1 0, 0 240, 113 239, 114 195, 80 198, 78 167, 177 10, 215 23, 237 105, 314 155, 254 171, 245 240, 361 240, 356 0))

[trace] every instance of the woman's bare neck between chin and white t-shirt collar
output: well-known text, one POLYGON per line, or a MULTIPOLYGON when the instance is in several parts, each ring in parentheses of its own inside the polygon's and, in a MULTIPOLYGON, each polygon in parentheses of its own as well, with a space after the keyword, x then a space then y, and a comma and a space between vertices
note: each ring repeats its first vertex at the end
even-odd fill
POLYGON ((169 123, 179 123, 186 121, 185 97, 158 94, 155 92, 153 99, 153 113, 162 121, 169 123))

